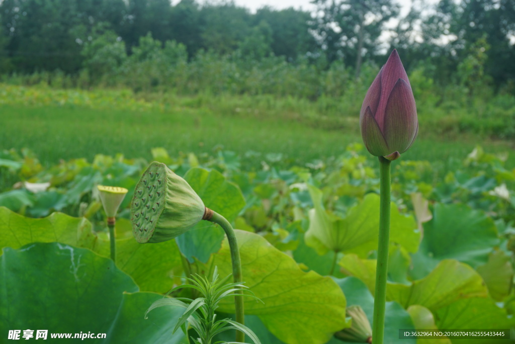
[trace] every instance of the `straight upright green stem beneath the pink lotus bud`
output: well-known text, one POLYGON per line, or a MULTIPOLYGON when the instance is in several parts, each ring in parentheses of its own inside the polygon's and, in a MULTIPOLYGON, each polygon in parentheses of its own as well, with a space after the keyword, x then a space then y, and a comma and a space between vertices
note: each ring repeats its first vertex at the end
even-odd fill
POLYGON ((372 331, 374 344, 383 344, 385 330, 386 276, 388 273, 388 245, 390 238, 390 164, 390 160, 379 157, 381 201, 379 208, 379 245, 377 246, 372 331))

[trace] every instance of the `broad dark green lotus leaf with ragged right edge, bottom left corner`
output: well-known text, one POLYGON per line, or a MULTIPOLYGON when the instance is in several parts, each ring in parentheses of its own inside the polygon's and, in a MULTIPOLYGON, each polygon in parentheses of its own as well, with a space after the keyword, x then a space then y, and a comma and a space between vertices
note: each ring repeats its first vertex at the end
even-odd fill
POLYGON ((146 309, 162 296, 138 292, 110 259, 88 249, 61 243, 4 248, 0 280, 4 338, 9 330, 31 329, 48 330, 48 338, 52 333, 107 334, 96 343, 185 342, 182 333, 170 331, 184 309, 161 307, 145 320, 146 309))

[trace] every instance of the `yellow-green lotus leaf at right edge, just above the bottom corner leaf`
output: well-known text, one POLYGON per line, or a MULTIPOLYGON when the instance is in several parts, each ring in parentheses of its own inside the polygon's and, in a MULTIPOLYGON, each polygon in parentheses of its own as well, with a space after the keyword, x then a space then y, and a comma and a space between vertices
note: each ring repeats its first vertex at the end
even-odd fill
POLYGON ((510 294, 513 284, 513 267, 510 256, 502 250, 495 250, 490 254, 488 262, 478 266, 476 271, 483 277, 492 299, 503 301, 510 294))

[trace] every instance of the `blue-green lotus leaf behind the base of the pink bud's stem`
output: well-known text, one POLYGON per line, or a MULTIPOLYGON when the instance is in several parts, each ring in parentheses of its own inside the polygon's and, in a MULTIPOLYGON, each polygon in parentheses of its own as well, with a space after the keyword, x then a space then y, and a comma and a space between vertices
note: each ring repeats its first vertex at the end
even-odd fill
MULTIPOLYGON (((334 280, 344 291, 347 304, 349 306, 361 306, 367 315, 368 321, 370 321, 370 324, 373 324, 374 297, 370 294, 367 286, 354 277, 334 280)), ((384 344, 398 344, 399 329, 414 330, 415 326, 409 314, 399 303, 394 301, 386 302, 384 344)), ((346 341, 339 342, 347 343, 346 341)), ((403 339, 402 342, 405 344, 415 344, 416 339, 403 339)))

